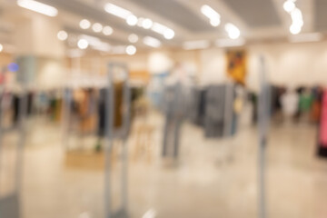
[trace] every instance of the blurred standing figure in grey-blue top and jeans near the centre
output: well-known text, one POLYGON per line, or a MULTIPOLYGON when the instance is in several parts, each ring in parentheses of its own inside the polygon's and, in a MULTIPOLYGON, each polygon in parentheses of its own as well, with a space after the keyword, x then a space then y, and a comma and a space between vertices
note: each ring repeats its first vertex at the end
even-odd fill
POLYGON ((177 159, 183 119, 188 113, 191 80, 183 64, 175 64, 172 74, 164 81, 163 112, 163 157, 177 159))

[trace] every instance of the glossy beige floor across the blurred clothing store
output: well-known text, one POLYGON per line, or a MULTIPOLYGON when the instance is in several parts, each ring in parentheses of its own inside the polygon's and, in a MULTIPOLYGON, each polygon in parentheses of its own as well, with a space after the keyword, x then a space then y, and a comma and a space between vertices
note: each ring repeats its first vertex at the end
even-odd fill
MULTIPOLYGON (((143 217, 257 217, 257 134, 243 127, 231 139, 206 140, 201 129, 183 125, 177 164, 160 158, 162 124, 151 149, 135 155, 129 140, 129 213, 143 217), (154 217, 154 216, 144 216, 154 217)), ((104 217, 104 173, 65 164, 60 126, 29 130, 23 181, 24 218, 104 217)), ((327 161, 314 156, 314 126, 271 129, 268 147, 267 207, 271 218, 324 218, 327 214, 327 161)), ((114 164, 114 203, 119 167, 114 164)))

